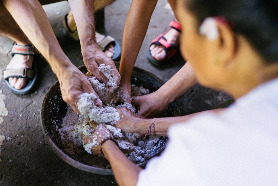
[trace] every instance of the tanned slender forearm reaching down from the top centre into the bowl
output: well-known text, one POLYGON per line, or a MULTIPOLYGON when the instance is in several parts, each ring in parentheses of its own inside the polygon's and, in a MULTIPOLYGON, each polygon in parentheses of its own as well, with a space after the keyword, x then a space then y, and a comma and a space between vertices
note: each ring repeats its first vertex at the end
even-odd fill
POLYGON ((124 26, 122 57, 119 72, 122 80, 130 80, 137 55, 157 0, 133 0, 124 26))

